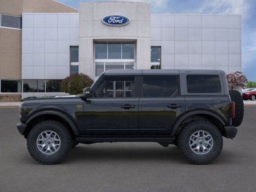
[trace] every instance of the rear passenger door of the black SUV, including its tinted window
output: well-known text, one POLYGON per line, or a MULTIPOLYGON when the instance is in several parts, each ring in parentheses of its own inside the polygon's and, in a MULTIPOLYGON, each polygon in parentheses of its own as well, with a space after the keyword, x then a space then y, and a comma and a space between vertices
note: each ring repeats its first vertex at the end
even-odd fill
POLYGON ((178 75, 142 76, 139 100, 139 133, 142 136, 170 135, 177 117, 185 112, 178 75))

